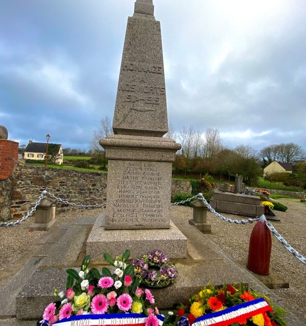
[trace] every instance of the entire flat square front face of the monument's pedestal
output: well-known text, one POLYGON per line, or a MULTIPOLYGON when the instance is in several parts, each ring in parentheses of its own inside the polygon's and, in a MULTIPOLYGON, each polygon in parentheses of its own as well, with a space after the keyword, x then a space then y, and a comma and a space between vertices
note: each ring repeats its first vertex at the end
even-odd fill
POLYGON ((169 228, 170 197, 170 162, 110 159, 105 228, 169 228))

